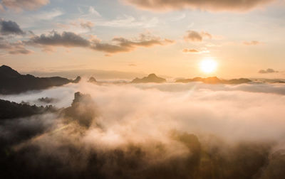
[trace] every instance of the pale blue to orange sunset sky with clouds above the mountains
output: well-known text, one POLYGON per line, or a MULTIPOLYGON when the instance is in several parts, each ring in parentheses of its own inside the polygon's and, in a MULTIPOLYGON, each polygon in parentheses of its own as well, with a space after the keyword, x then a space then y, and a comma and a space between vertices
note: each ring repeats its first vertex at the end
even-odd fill
POLYGON ((284 0, 0 4, 0 65, 19 72, 285 78, 284 0), (203 72, 205 59, 217 69, 203 72))

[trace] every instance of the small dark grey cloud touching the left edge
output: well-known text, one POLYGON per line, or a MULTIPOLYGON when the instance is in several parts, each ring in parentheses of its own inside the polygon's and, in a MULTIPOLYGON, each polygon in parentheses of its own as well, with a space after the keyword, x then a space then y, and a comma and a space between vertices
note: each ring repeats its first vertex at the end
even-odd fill
POLYGON ((24 31, 14 21, 0 20, 0 32, 2 35, 24 35, 24 31))

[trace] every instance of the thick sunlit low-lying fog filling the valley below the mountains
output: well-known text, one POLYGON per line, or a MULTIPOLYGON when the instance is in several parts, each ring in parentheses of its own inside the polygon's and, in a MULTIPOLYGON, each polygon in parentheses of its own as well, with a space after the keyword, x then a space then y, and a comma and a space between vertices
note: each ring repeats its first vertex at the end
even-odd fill
POLYGON ((81 106, 95 112, 89 127, 58 114, 1 124, 1 140, 16 141, 13 151, 28 161, 23 173, 45 178, 39 171, 54 166, 71 178, 284 177, 285 85, 80 82, 0 98, 43 105, 37 99, 50 97, 62 108, 75 92, 93 99, 81 106), (37 132, 21 140, 23 130, 37 132))

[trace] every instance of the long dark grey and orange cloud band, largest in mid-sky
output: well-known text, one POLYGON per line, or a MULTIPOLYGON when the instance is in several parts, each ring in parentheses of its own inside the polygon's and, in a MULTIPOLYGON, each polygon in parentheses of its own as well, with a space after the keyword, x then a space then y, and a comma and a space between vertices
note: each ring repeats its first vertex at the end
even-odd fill
POLYGON ((26 45, 40 46, 43 48, 52 46, 63 46, 67 48, 81 47, 105 53, 123 53, 135 50, 138 47, 152 47, 154 45, 168 45, 174 40, 162 39, 152 36, 150 33, 141 33, 139 38, 129 40, 127 38, 113 38, 112 43, 102 43, 100 39, 92 36, 90 39, 83 38, 73 32, 57 33, 52 31, 49 35, 33 36, 30 40, 24 41, 26 45))

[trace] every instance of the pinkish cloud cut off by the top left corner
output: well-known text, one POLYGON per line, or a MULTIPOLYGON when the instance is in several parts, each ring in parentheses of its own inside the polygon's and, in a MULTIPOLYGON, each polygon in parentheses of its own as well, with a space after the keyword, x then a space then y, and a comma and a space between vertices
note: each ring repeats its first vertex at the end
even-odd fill
POLYGON ((49 0, 2 0, 1 4, 15 11, 34 10, 45 6, 49 0))

